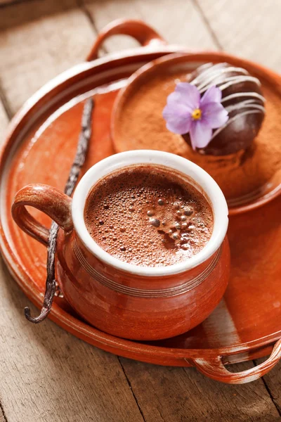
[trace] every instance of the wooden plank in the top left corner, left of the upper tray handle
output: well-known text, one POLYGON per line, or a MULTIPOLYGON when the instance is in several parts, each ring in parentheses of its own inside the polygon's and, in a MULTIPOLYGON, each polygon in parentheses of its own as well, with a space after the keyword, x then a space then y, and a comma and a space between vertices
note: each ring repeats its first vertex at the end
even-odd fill
POLYGON ((13 113, 49 79, 83 61, 94 37, 76 0, 2 8, 0 79, 13 113))

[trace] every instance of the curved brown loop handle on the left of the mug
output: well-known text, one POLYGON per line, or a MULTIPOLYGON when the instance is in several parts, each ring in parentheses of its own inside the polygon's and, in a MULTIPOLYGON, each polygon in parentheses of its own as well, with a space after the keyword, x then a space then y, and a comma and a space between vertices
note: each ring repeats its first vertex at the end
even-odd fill
POLYGON ((37 241, 48 245, 49 229, 37 222, 25 205, 37 208, 51 217, 64 231, 73 229, 71 216, 72 198, 57 188, 45 184, 30 184, 16 193, 12 205, 12 215, 20 229, 37 241))

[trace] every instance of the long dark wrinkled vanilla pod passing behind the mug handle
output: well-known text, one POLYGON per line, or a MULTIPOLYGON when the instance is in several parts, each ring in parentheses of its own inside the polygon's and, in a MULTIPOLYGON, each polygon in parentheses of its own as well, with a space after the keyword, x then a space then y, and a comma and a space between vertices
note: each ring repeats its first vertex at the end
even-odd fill
MULTIPOLYGON (((86 154, 89 148, 89 141, 91 139, 91 124, 93 115, 94 102, 92 98, 86 100, 84 105, 83 115, 81 119, 81 132, 77 144, 77 152, 74 162, 70 169, 70 174, 65 184, 65 194, 70 196, 74 191, 75 184, 79 177, 81 167, 84 165, 86 154)), ((38 324, 48 316, 53 305, 53 297, 55 295, 55 247, 58 236, 58 224, 52 222, 50 234, 48 237, 48 257, 47 257, 47 277, 46 290, 44 295, 43 307, 39 316, 31 316, 30 308, 25 307, 25 317, 28 321, 38 324)))

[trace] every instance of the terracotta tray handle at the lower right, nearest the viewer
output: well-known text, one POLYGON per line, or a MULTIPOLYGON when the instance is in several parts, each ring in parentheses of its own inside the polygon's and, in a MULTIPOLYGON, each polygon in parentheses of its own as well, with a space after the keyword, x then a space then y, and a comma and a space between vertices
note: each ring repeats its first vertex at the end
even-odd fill
POLYGON ((228 371, 223 362, 221 362, 220 356, 211 357, 209 359, 192 358, 192 363, 196 366, 198 371, 213 380, 227 384, 244 384, 251 383, 251 381, 261 378, 261 376, 268 373, 270 369, 273 369, 273 366, 275 366, 280 359, 281 338, 275 343, 270 357, 268 357, 265 362, 258 366, 254 366, 254 368, 247 369, 246 371, 235 373, 228 371))

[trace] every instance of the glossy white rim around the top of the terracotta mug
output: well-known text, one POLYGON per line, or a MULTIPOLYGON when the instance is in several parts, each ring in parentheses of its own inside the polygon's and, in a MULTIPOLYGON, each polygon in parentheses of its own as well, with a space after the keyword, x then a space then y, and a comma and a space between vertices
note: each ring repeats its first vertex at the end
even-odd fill
POLYGON ((221 188, 216 184, 216 181, 194 162, 186 160, 179 155, 166 153, 164 151, 126 151, 124 153, 110 155, 110 157, 97 162, 86 172, 86 174, 84 174, 84 177, 79 181, 74 192, 72 200, 72 220, 74 229, 82 243, 84 243, 86 248, 93 253, 93 255, 106 264, 121 271, 125 271, 126 273, 136 274, 138 276, 171 276, 197 267, 218 250, 228 229, 228 205, 226 203, 226 198, 223 196, 221 188), (142 267, 118 260, 105 252, 103 248, 100 248, 86 228, 84 222, 84 206, 93 185, 107 174, 115 172, 115 170, 130 165, 140 164, 162 165, 183 173, 185 176, 189 177, 191 184, 192 181, 195 181, 195 187, 198 188, 197 185, 199 185, 202 188, 202 191, 207 198, 209 198, 211 203, 214 215, 214 227, 209 242, 196 255, 179 262, 178 264, 165 267, 142 267))

